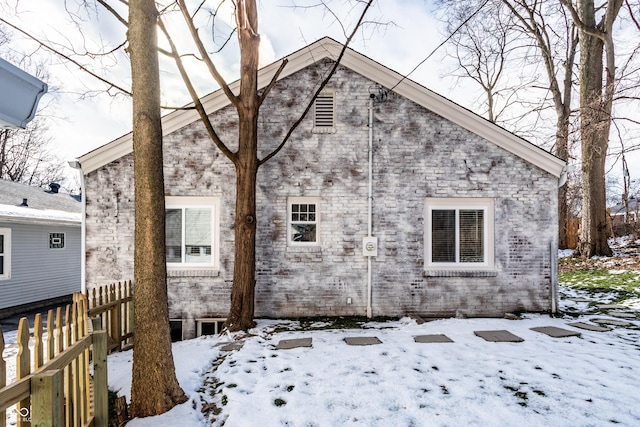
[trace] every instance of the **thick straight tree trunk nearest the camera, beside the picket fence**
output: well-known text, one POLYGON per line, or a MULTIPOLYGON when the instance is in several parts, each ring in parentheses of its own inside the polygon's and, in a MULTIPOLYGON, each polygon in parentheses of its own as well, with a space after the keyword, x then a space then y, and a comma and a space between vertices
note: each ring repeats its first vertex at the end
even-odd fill
POLYGON ((156 20, 154 0, 129 3, 135 177, 133 417, 158 415, 187 400, 176 378, 169 330, 156 20))

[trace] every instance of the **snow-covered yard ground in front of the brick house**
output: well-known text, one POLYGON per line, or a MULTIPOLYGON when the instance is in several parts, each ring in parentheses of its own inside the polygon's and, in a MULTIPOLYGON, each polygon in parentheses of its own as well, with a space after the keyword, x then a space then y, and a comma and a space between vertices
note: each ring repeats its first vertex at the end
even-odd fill
MULTIPOLYGON (((565 289, 565 296, 570 293, 565 289)), ((222 351, 229 338, 218 336, 174 344, 177 376, 189 401, 128 426, 640 425, 640 321, 609 332, 567 325, 594 317, 624 320, 525 315, 418 325, 405 318, 365 329, 284 332, 276 327, 299 324, 259 320, 240 350, 222 351), (538 326, 582 335, 551 338, 530 329, 538 326), (494 343, 474 335, 498 329, 524 341, 494 343), (414 342, 414 336, 429 334, 454 342, 414 342), (382 344, 347 345, 344 338, 354 336, 375 336, 382 344), (311 348, 275 349, 280 340, 306 337, 313 339, 311 348)), ((5 336, 8 346, 11 338, 5 336)), ((11 365, 13 357, 6 356, 11 365)), ((110 387, 127 400, 131 361, 131 352, 108 361, 110 387)))

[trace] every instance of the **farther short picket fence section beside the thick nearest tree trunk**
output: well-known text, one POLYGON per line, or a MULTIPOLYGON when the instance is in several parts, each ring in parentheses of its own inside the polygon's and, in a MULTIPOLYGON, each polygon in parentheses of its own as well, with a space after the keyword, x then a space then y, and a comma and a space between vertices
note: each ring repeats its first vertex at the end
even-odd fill
POLYGON ((108 351, 121 351, 133 346, 133 285, 118 282, 87 291, 89 317, 99 317, 107 331, 108 351))

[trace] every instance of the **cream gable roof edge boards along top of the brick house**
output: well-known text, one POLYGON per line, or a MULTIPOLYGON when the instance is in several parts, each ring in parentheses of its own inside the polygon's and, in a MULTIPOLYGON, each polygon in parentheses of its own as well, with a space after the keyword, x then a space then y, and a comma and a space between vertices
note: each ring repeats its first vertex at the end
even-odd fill
MULTIPOLYGON (((342 47, 343 45, 341 43, 329 37, 322 38, 287 56, 286 59, 289 62, 279 78, 282 79, 290 76, 325 58, 336 60, 340 55, 342 47)), ((259 88, 266 87, 275 75, 281 62, 281 60, 274 62, 258 71, 259 88)), ((555 157, 540 147, 514 135, 455 102, 438 95, 413 80, 404 78, 401 74, 353 49, 348 48, 346 50, 340 64, 375 81, 385 88, 393 87, 393 91, 398 95, 483 137, 556 177, 560 177, 562 174, 565 162, 558 157, 555 157)), ((238 93, 240 82, 235 81, 231 83, 229 87, 234 93, 238 93)), ((201 101, 208 114, 230 104, 230 101, 221 89, 204 96, 201 101)), ((163 134, 168 135, 198 120, 200 120, 200 117, 195 109, 176 110, 162 118, 163 134)), ((82 165, 83 172, 87 174, 131 153, 133 151, 132 144, 132 133, 128 133, 102 147, 84 154, 78 159, 82 165)))

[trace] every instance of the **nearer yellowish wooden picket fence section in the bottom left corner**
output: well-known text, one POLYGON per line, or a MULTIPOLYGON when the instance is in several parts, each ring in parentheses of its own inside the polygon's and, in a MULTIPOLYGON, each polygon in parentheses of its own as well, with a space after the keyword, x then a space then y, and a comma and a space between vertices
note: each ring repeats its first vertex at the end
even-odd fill
POLYGON ((89 323, 86 297, 74 294, 73 303, 65 308, 64 319, 62 308, 55 310, 55 315, 49 310, 46 334, 42 316, 36 315, 33 350, 29 349, 29 339, 29 322, 22 318, 17 336, 16 379, 7 385, 6 362, 2 358, 5 344, 0 331, 0 427, 5 427, 6 409, 14 404, 18 427, 106 427, 107 332, 99 318, 89 323))

